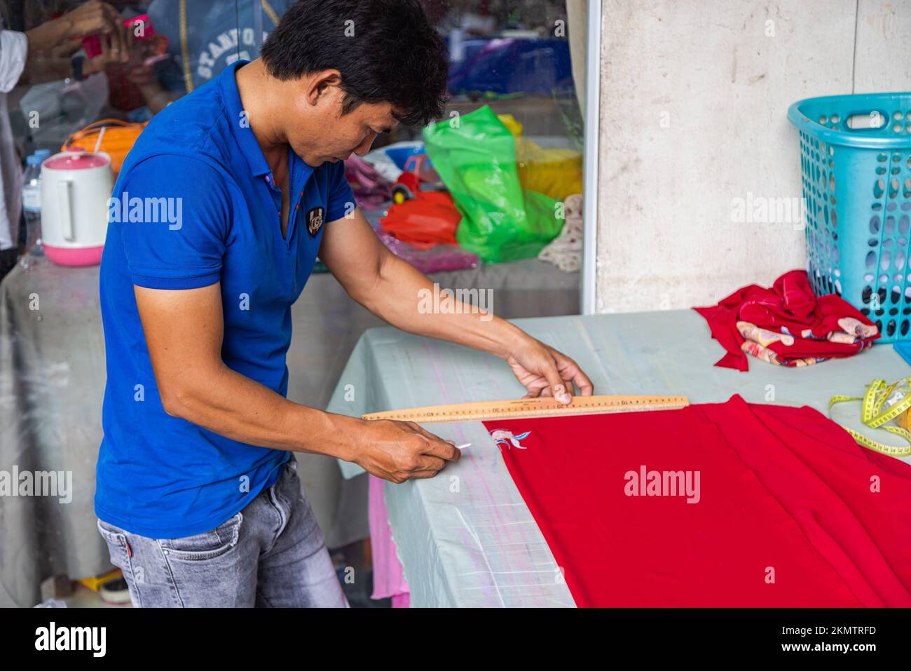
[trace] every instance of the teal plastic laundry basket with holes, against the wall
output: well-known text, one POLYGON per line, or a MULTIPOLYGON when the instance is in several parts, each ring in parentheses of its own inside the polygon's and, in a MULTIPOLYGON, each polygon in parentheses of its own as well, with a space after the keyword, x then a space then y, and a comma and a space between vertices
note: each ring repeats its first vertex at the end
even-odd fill
POLYGON ((800 131, 808 273, 879 328, 911 340, 911 93, 807 98, 800 131))

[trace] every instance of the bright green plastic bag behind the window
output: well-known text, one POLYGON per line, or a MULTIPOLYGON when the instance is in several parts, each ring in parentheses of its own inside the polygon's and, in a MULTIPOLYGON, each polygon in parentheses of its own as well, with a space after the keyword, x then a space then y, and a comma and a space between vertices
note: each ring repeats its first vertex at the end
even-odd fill
POLYGON ((537 256, 563 226, 556 202, 522 191, 516 142, 487 106, 424 129, 427 155, 462 214, 455 239, 486 263, 537 256))

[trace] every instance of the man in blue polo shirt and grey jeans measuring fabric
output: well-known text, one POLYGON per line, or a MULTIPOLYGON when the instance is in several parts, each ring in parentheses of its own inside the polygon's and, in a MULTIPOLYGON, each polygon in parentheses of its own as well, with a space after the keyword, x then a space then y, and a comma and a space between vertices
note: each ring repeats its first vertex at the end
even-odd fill
POLYGON ((346 604, 292 451, 394 482, 455 446, 410 422, 289 401, 291 306, 319 255, 390 324, 507 360, 532 396, 568 403, 578 366, 517 326, 425 314, 425 275, 355 208, 343 160, 442 115, 445 46, 416 0, 302 0, 261 58, 156 116, 109 203, 98 529, 134 605, 346 604))

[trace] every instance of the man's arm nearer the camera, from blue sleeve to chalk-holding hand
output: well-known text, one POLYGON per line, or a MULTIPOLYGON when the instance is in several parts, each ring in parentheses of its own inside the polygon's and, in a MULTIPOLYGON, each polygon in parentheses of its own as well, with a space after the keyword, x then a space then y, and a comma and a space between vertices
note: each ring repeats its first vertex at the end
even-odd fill
POLYGON ((220 276, 232 211, 220 172, 191 157, 153 156, 123 179, 131 196, 182 203, 178 227, 158 218, 112 222, 107 237, 107 244, 123 245, 142 335, 169 415, 251 445, 347 459, 394 482, 431 477, 445 460, 458 459, 451 443, 415 424, 306 408, 231 370, 221 358, 220 276))

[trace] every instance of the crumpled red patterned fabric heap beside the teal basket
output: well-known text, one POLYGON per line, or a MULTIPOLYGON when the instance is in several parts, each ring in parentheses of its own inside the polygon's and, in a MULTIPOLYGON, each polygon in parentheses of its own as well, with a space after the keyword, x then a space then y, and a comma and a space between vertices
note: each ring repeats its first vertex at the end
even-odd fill
POLYGON ((715 366, 742 371, 747 370, 749 364, 742 351, 745 338, 737 328, 738 322, 749 322, 793 336, 793 345, 776 342, 767 346, 785 366, 794 365, 798 359, 854 356, 879 337, 858 338, 854 343, 827 340, 829 334, 843 330, 838 322, 844 317, 853 317, 868 326, 873 326, 873 322, 835 294, 816 297, 802 270, 783 274, 771 289, 751 284, 738 289, 718 305, 693 309, 705 318, 711 336, 728 351, 715 366), (802 336, 807 329, 807 336, 802 336))

